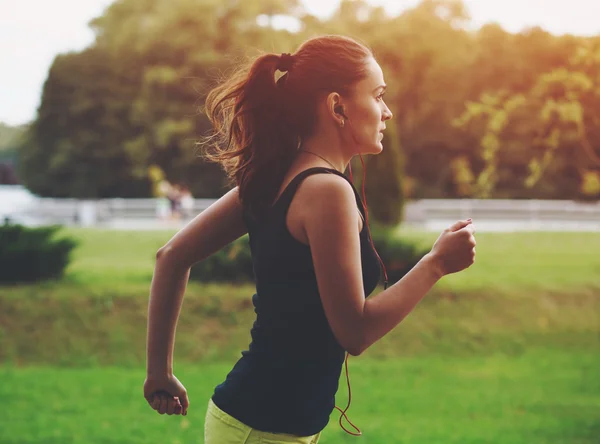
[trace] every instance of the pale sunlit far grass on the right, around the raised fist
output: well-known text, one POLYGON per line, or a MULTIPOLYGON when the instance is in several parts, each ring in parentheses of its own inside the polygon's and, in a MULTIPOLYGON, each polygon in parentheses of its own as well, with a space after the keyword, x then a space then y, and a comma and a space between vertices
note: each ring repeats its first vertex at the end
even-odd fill
MULTIPOLYGON (((437 235, 399 230, 429 247, 437 235)), ((456 291, 600 290, 600 233, 479 233, 475 264, 440 283, 456 291)))

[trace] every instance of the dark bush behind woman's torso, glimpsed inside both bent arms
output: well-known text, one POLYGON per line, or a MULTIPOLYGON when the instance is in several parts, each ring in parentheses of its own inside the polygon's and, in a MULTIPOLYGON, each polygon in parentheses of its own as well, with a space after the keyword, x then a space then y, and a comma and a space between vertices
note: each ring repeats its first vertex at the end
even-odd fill
MULTIPOLYGON (((383 260, 389 284, 397 282, 426 254, 393 235, 391 229, 375 229, 373 243, 383 260)), ((194 265, 190 279, 202 282, 246 283, 254 279, 248 237, 244 236, 194 265)))

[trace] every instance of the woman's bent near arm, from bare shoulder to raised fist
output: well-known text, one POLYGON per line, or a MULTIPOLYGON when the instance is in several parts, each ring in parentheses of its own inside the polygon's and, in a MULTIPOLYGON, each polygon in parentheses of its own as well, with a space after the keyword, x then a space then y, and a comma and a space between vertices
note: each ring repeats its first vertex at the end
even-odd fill
MULTIPOLYGON (((434 246, 404 278, 365 299, 354 191, 342 178, 321 177, 318 185, 307 180, 307 186, 299 190, 310 207, 304 213, 304 228, 329 324, 340 345, 350 354, 359 355, 396 327, 448 272, 444 252, 455 253, 465 263, 472 259, 472 232, 453 233, 460 237, 452 238, 450 243, 444 237, 443 245, 438 240, 437 248, 434 246)), ((450 231, 442 236, 448 234, 450 231)))

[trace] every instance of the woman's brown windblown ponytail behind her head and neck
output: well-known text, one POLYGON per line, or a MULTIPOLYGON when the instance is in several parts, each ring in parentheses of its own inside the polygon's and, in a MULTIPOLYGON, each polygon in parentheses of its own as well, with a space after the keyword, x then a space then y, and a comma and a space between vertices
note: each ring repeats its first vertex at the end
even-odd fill
POLYGON ((237 184, 240 199, 258 214, 274 201, 293 161, 298 134, 286 119, 285 78, 290 54, 266 54, 213 89, 206 114, 214 127, 212 150, 205 156, 221 163, 237 184), (283 63, 282 63, 283 62, 283 63))

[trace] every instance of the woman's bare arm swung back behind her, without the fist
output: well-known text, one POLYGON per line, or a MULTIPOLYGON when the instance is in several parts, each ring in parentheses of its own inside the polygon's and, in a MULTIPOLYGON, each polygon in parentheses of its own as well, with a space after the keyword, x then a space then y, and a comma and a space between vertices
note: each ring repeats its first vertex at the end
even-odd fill
POLYGON ((158 251, 148 307, 148 374, 173 373, 175 330, 190 267, 246 232, 238 190, 234 188, 158 251))

